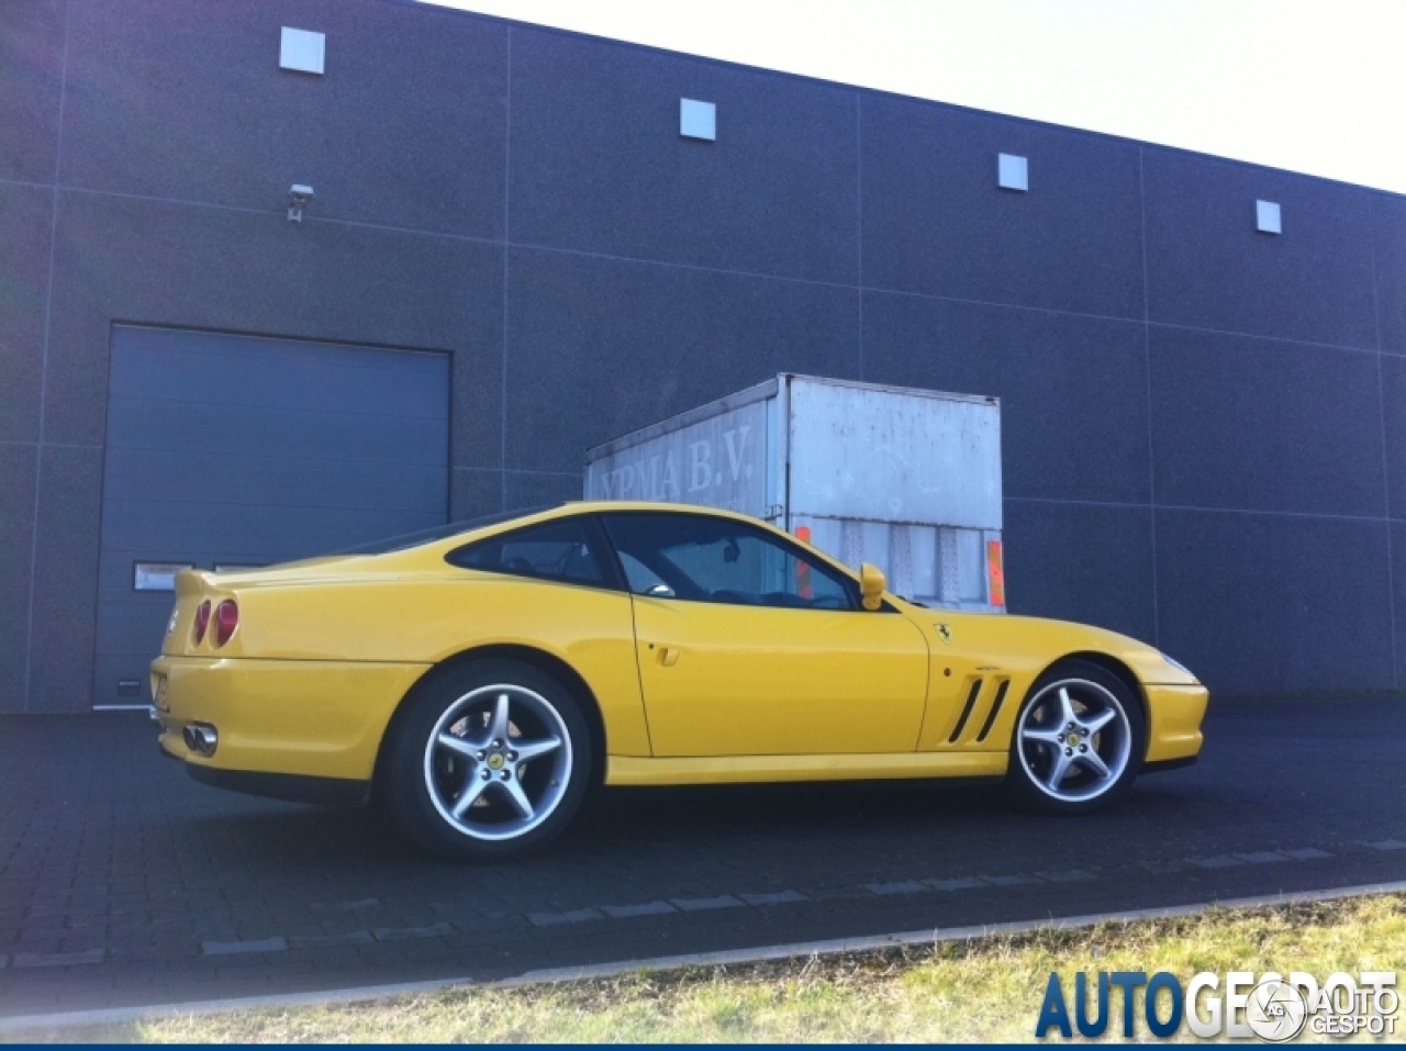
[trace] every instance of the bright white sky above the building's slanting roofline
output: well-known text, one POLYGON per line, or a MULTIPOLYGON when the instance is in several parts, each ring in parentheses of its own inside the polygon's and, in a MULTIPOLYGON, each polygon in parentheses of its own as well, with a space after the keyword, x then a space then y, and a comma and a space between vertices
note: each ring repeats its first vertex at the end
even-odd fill
POLYGON ((436 0, 1406 192, 1406 0, 436 0))

